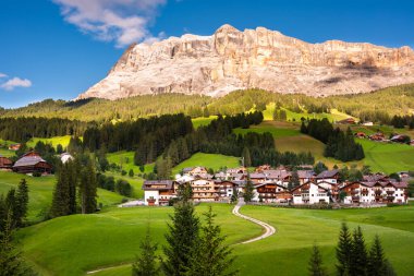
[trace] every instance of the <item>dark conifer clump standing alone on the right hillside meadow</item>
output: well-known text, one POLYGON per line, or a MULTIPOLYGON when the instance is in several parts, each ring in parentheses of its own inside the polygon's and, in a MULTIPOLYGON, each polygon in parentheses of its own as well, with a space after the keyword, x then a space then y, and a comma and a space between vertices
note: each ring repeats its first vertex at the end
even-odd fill
POLYGON ((350 128, 342 131, 324 118, 321 120, 312 119, 302 121, 301 132, 308 134, 324 144, 326 144, 324 155, 333 157, 341 161, 361 160, 365 157, 364 149, 361 144, 356 143, 350 128))

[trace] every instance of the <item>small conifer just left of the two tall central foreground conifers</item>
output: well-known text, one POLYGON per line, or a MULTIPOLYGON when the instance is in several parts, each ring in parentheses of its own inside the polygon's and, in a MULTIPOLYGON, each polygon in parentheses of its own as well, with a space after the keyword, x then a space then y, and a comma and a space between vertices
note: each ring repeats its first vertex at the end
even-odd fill
POLYGON ((157 266, 156 251, 157 244, 153 243, 149 227, 145 239, 141 242, 141 254, 136 257, 132 265, 132 276, 156 276, 159 275, 159 267, 157 266))

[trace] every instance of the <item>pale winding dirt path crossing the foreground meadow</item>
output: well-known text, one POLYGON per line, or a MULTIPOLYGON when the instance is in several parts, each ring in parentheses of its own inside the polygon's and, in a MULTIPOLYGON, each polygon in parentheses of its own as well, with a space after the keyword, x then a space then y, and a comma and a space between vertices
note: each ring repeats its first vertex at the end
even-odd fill
MULTIPOLYGON (((263 227, 265 229, 265 232, 263 235, 260 235, 259 237, 256 237, 256 238, 243 241, 243 242, 235 243, 234 245, 236 245, 236 244, 245 244, 245 243, 251 243, 251 242, 255 242, 255 241, 258 241, 258 240, 263 240, 263 239, 266 239, 266 238, 268 238, 268 237, 270 237, 270 236, 272 236, 272 235, 276 233, 276 229, 271 225, 266 224, 266 223, 264 223, 261 220, 258 220, 256 218, 248 217, 248 216, 240 214, 239 211, 240 211, 240 208, 243 205, 245 205, 245 203, 244 203, 244 200, 241 197, 241 199, 239 199, 238 205, 235 205, 234 208, 233 208, 233 211, 232 211, 233 215, 238 216, 238 217, 241 217, 243 219, 246 219, 248 221, 252 221, 252 223, 254 223, 256 225, 259 225, 260 227, 263 227)), ((102 267, 102 268, 98 268, 98 269, 95 269, 95 271, 89 271, 86 274, 87 275, 96 274, 96 273, 99 273, 99 272, 102 272, 102 271, 112 269, 112 268, 115 268, 115 267, 119 267, 119 266, 123 266, 123 265, 126 265, 126 264, 102 267)))

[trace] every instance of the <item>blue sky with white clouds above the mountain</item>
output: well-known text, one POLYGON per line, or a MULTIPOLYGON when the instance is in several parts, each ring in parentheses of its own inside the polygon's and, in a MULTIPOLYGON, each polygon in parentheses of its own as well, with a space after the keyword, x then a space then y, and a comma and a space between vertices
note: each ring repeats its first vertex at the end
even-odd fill
POLYGON ((411 0, 1 0, 0 107, 72 99, 132 41, 210 35, 228 23, 309 43, 414 48, 413 14, 411 0))

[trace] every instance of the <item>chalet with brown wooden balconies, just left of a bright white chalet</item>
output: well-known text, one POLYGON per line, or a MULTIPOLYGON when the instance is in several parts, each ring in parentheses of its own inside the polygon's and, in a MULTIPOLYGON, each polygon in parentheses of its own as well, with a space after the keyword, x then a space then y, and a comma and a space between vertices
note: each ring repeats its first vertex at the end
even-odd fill
POLYGON ((275 182, 265 182, 255 185, 253 201, 263 201, 266 203, 287 203, 292 200, 292 194, 283 185, 275 182))

